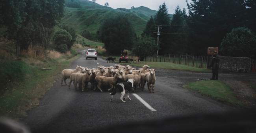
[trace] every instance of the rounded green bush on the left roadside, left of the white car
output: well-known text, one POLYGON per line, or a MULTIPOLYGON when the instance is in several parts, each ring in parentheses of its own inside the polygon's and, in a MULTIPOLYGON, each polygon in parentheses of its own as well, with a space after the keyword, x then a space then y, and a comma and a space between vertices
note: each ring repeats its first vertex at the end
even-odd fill
POLYGON ((59 29, 53 36, 54 49, 61 53, 66 53, 68 50, 67 45, 72 40, 72 36, 66 30, 59 29))

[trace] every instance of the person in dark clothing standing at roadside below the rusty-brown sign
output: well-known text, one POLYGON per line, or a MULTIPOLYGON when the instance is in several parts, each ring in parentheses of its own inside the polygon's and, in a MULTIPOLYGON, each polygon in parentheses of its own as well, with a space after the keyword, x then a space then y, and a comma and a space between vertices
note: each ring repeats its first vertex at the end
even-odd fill
POLYGON ((219 60, 220 57, 217 54, 217 51, 214 51, 213 58, 211 60, 211 67, 212 67, 212 78, 211 80, 218 80, 219 77, 219 60))

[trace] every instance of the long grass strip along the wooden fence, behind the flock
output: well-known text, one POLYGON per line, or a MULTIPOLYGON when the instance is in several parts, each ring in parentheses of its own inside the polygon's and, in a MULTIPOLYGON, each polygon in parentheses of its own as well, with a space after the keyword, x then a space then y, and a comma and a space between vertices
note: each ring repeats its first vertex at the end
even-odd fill
MULTIPOLYGON (((117 58, 116 62, 119 58, 117 58)), ((135 61, 134 61, 135 62, 135 61)), ((119 63, 122 65, 132 65, 132 66, 143 66, 148 65, 152 68, 163 68, 163 69, 176 69, 176 70, 187 70, 187 71, 193 71, 193 72, 212 72, 212 70, 206 69, 206 68, 198 68, 198 67, 192 67, 187 65, 180 65, 180 64, 174 64, 169 62, 149 62, 149 61, 141 61, 139 64, 128 64, 128 63, 119 63)), ((221 72, 219 72, 221 73, 221 72)))

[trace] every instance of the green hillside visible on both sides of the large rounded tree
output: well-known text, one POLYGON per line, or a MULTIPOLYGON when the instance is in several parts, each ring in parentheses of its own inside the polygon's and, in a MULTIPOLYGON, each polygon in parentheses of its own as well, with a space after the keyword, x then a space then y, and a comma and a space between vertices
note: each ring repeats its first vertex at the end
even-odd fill
MULTIPOLYGON (((100 23, 106 17, 113 16, 118 11, 115 9, 88 9, 88 8, 66 8, 65 17, 61 20, 61 25, 68 25, 73 27, 78 34, 82 34, 83 30, 91 32, 91 40, 96 40, 96 32, 100 27, 100 23)), ((141 18, 141 16, 129 13, 132 23, 134 23, 134 29, 137 35, 140 35, 147 25, 147 20, 141 18)), ((56 27, 56 29, 58 29, 56 27)))

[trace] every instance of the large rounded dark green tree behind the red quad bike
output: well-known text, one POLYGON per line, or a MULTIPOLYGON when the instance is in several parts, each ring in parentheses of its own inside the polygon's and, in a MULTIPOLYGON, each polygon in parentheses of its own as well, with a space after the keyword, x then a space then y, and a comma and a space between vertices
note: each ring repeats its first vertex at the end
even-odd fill
POLYGON ((120 54, 124 49, 132 50, 135 38, 134 26, 130 15, 117 13, 105 18, 101 23, 98 40, 102 41, 106 50, 111 54, 120 54))

